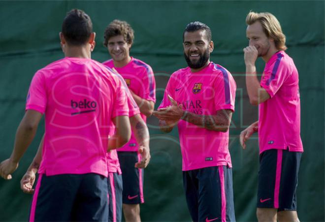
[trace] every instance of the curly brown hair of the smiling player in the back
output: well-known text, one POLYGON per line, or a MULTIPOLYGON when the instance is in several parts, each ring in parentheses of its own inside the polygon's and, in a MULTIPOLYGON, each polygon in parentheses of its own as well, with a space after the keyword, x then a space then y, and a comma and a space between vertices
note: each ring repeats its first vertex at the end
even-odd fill
POLYGON ((105 29, 104 46, 107 47, 108 39, 117 35, 122 35, 128 44, 133 43, 134 31, 129 23, 121 20, 113 20, 105 29))

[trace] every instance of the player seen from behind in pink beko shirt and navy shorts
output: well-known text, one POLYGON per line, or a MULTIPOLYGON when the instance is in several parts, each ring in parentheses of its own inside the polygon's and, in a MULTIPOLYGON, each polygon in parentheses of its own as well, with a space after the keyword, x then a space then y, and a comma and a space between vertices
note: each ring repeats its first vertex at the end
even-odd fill
POLYGON ((130 139, 127 92, 117 76, 91 59, 95 32, 85 12, 67 13, 60 40, 65 58, 35 73, 13 153, 0 163, 0 175, 11 178, 45 114, 30 221, 107 221, 106 151, 130 139), (110 140, 101 139, 114 125, 110 140))

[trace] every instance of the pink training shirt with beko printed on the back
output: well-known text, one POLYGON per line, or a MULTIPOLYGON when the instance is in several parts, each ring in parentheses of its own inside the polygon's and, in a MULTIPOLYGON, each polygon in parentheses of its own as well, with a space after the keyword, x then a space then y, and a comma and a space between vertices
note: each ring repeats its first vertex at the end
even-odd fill
POLYGON ((45 113, 39 173, 107 177, 112 118, 129 114, 122 84, 106 66, 91 59, 66 57, 35 73, 26 110, 45 113))

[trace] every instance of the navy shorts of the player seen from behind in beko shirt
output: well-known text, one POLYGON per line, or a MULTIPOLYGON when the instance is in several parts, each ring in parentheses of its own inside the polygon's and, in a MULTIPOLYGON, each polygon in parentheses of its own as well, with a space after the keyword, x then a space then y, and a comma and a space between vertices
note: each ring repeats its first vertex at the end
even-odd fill
POLYGON ((30 222, 108 221, 107 179, 95 173, 40 174, 30 222))

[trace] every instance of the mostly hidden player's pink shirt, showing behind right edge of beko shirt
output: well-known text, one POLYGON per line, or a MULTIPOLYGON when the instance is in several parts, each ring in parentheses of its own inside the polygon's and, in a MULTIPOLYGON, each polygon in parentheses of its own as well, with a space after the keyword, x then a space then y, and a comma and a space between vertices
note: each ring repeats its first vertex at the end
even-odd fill
MULTIPOLYGON (((116 73, 114 70, 110 69, 109 67, 108 67, 108 69, 111 72, 113 72, 116 76, 118 76, 121 79, 121 81, 123 81, 124 88, 127 91, 127 99, 128 99, 128 106, 129 106, 129 117, 140 114, 140 110, 139 110, 136 102, 134 101, 132 95, 130 94, 128 86, 126 85, 123 77, 120 74, 116 73)), ((114 132, 115 132, 115 127, 112 127, 111 132, 109 134, 113 135, 114 132)), ((108 172, 109 173, 118 173, 118 174, 122 173, 119 158, 117 156, 117 151, 116 150, 111 150, 111 151, 107 152, 107 167, 108 167, 108 172)))

